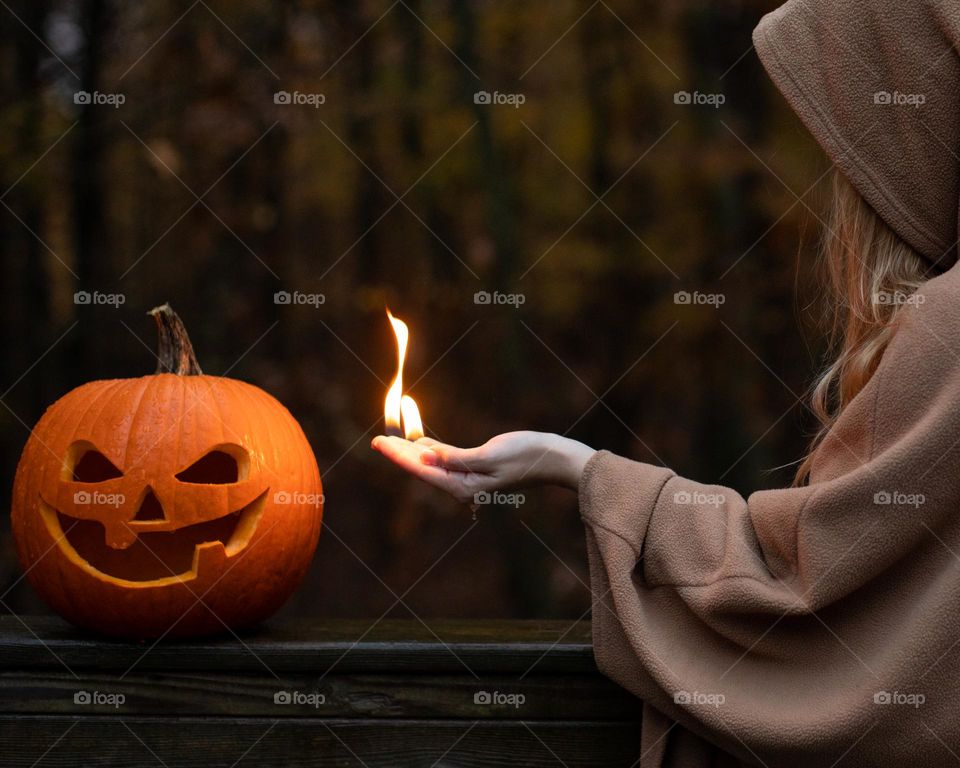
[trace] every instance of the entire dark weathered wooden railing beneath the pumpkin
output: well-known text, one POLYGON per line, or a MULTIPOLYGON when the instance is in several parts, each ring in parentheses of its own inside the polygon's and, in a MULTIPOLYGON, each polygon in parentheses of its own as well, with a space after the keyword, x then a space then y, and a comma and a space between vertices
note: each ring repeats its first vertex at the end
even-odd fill
POLYGON ((269 623, 119 643, 0 617, 0 766, 631 766, 640 705, 590 627, 269 623))

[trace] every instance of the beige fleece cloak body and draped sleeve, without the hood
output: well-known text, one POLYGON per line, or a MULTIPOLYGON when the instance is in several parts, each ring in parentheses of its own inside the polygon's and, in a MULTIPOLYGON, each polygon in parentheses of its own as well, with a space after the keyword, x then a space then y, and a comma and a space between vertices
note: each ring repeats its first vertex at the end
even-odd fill
POLYGON ((601 451, 580 505, 641 768, 957 765, 960 265, 902 309, 808 486, 744 499, 601 451))

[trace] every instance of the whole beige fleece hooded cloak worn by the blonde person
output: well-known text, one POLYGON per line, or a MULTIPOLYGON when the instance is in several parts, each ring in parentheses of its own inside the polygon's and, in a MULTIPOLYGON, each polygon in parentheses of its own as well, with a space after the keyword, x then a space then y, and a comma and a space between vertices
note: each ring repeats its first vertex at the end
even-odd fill
POLYGON ((641 768, 955 766, 960 0, 791 0, 754 41, 831 159, 946 271, 902 308, 808 485, 744 498, 591 458, 597 663, 644 700, 641 768))

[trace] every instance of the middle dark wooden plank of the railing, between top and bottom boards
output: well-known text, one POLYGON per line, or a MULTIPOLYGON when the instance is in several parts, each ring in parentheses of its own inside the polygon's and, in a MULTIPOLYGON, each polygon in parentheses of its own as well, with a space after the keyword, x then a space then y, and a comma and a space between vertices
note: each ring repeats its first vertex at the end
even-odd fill
POLYGON ((0 673, 0 711, 100 717, 633 720, 640 704, 600 675, 262 675, 0 673), (118 698, 122 696, 122 703, 118 698), (110 697, 105 699, 104 697, 110 697), (96 703, 96 699, 103 703, 96 703), (89 701, 88 701, 89 700, 89 701), (116 705, 116 706, 115 706, 116 705))

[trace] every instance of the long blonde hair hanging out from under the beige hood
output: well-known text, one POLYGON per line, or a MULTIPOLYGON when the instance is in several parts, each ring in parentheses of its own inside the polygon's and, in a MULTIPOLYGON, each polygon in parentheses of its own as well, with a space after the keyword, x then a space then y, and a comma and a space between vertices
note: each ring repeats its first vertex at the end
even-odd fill
POLYGON ((832 362, 815 382, 810 409, 819 422, 796 485, 810 478, 813 456, 847 405, 873 376, 896 332, 896 320, 929 277, 929 265, 834 171, 833 199, 821 248, 830 299, 832 362))

